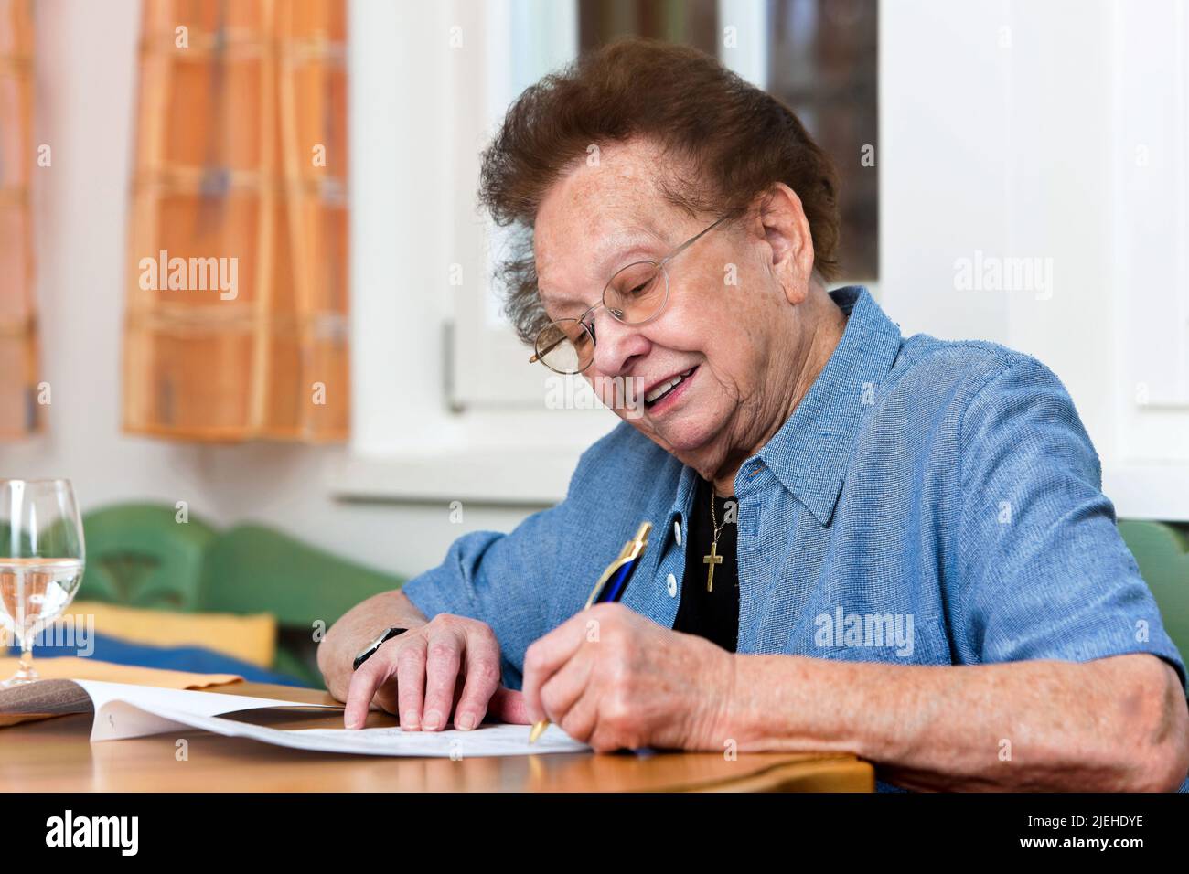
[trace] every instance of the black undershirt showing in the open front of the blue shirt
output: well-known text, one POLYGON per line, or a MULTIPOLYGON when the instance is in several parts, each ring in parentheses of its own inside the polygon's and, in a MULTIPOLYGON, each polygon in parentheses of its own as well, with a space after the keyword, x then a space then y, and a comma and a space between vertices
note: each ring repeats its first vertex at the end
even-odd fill
POLYGON ((710 497, 713 489, 702 477, 698 477, 693 507, 686 524, 685 578, 681 584, 681 604, 678 606, 673 629, 686 634, 697 634, 717 643, 723 649, 734 653, 738 643, 740 630, 740 583, 738 566, 735 552, 738 541, 738 504, 734 497, 721 498, 715 495, 715 520, 718 522, 718 548, 716 554, 723 561, 715 565, 715 586, 706 591, 706 570, 703 560, 710 554, 710 545, 715 541, 715 528, 710 518, 710 497), (728 507, 732 510, 730 522, 728 507))

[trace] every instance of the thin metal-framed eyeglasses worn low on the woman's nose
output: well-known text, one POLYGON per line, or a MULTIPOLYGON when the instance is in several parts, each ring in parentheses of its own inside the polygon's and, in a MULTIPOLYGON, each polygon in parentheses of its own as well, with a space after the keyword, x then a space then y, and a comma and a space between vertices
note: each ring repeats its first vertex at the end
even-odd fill
POLYGON ((616 271, 603 287, 603 297, 577 319, 549 322, 536 337, 536 354, 529 364, 541 361, 558 373, 581 373, 594 360, 594 322, 587 321, 599 307, 623 325, 643 325, 661 314, 668 303, 669 279, 666 265, 704 235, 724 222, 718 219, 696 233, 660 260, 637 260, 616 271))

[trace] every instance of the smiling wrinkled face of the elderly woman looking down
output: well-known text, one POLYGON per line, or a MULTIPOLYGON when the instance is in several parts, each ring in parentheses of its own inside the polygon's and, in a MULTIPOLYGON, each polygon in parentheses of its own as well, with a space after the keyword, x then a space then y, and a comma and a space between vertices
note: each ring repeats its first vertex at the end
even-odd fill
MULTIPOLYGON (((663 197, 661 161, 641 140, 606 146, 596 165, 580 163, 548 190, 534 246, 551 319, 581 315, 619 268, 660 260, 717 218, 691 218, 663 197)), ((723 222, 668 264, 669 296, 660 316, 634 326, 605 307, 589 316, 597 341, 583 376, 621 417, 685 464, 712 473, 748 452, 760 434, 770 435, 774 417, 787 415, 786 367, 803 334, 789 294, 805 295, 806 243, 773 233, 757 216, 723 222), (653 397, 678 377, 675 388, 653 397), (611 389, 624 382, 633 403, 616 407, 611 389)))

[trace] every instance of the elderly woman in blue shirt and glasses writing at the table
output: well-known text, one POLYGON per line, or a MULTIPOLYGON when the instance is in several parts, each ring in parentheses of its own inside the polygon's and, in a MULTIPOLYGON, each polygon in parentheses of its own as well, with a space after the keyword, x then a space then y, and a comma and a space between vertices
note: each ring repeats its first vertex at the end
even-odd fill
POLYGON ((331 629, 348 727, 372 705, 597 750, 849 750, 907 788, 1181 785, 1184 666, 1070 397, 828 290, 836 194, 786 106, 690 49, 618 43, 521 95, 482 177, 524 231, 508 312, 534 360, 635 390, 562 503, 331 629), (622 603, 583 610, 641 521, 622 603))

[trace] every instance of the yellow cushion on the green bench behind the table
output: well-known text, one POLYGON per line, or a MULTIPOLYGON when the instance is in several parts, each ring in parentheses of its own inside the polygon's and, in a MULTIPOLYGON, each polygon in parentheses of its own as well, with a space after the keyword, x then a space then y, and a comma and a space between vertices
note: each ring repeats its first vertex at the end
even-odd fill
POLYGON ((277 620, 271 614, 181 614, 99 601, 76 601, 63 612, 75 623, 94 616, 96 633, 131 643, 206 647, 259 667, 272 667, 277 654, 277 620))

